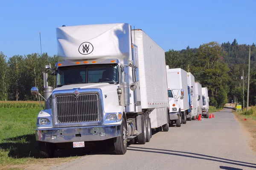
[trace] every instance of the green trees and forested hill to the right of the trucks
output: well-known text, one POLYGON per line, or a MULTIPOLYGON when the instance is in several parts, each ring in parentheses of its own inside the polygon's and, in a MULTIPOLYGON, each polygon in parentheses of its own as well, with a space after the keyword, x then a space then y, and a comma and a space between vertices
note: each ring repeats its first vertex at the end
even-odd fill
MULTIPOLYGON (((250 54, 251 105, 255 104, 255 79, 256 79, 256 46, 251 45, 250 54)), ((235 39, 232 43, 209 42, 199 48, 189 48, 166 52, 166 64, 170 68, 182 68, 191 72, 195 80, 201 82, 203 87, 208 87, 210 104, 222 108, 226 102, 234 100, 242 103, 242 71, 244 70, 244 91, 246 101, 247 74, 248 74, 249 45, 239 45, 235 39)), ((245 102, 246 104, 246 102, 245 102)))

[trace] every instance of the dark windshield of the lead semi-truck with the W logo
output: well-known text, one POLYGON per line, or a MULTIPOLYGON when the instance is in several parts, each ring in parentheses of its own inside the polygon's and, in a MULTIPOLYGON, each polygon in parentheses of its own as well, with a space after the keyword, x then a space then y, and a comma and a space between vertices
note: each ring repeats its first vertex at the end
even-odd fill
POLYGON ((99 82, 118 84, 118 65, 73 65, 58 68, 57 87, 61 87, 62 85, 99 82))

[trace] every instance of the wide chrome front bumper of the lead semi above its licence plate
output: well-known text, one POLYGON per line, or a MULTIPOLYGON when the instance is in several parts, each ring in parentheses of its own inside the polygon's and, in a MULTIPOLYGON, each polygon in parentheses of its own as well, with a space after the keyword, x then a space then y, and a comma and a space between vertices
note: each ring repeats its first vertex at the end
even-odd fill
POLYGON ((101 141, 121 135, 121 125, 36 129, 37 141, 50 143, 101 141), (52 139, 56 136, 56 139, 52 139))

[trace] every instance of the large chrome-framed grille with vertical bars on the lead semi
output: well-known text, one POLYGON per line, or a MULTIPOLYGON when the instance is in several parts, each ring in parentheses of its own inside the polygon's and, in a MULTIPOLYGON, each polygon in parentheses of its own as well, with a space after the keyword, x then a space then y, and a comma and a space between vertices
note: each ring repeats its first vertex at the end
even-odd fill
POLYGON ((98 94, 56 96, 58 123, 97 122, 99 121, 98 94))

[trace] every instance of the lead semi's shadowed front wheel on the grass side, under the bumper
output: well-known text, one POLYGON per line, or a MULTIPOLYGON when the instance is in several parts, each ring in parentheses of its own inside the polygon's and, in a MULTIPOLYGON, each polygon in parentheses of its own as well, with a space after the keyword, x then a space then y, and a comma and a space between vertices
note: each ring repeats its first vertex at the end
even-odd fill
POLYGON ((55 145, 48 142, 38 142, 38 148, 43 158, 53 158, 55 153, 55 145))

